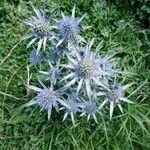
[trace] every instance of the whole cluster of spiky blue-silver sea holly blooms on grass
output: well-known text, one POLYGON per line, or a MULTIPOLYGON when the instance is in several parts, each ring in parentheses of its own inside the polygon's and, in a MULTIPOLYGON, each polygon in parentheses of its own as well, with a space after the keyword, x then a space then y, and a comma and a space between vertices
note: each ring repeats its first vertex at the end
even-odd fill
POLYGON ((45 12, 38 10, 33 4, 32 8, 37 16, 25 21, 32 31, 28 38, 33 38, 27 46, 33 47, 30 53, 31 67, 42 65, 44 61, 49 69, 46 70, 45 67, 45 70, 39 70, 39 73, 46 76, 44 81, 38 79, 39 87, 42 88, 27 85, 37 95, 25 106, 39 105, 48 111, 48 119, 54 108, 63 113, 63 121, 70 116, 73 124, 77 116, 87 116, 87 121, 93 119, 99 123, 102 109, 107 108, 112 119, 115 106, 123 113, 122 104, 133 103, 126 97, 126 89, 132 84, 116 82, 119 78, 117 59, 115 54, 109 52, 105 56, 100 55, 102 41, 96 47, 94 39, 86 42, 80 36, 83 29, 81 21, 85 15, 75 18, 74 6, 71 16, 62 13, 63 18, 56 20, 54 15, 47 18, 45 12), (53 20, 55 23, 52 24, 53 20), (39 40, 38 46, 35 44, 36 40, 39 40), (47 40, 51 42, 46 46, 47 40), (45 50, 48 53, 46 57, 43 54, 45 50))

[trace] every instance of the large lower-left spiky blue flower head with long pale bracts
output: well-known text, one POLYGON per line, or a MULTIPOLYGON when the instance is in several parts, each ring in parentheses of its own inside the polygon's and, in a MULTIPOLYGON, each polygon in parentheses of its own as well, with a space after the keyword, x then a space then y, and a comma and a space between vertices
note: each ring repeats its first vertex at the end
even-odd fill
POLYGON ((29 89, 38 92, 38 94, 33 100, 25 104, 25 106, 38 104, 42 109, 48 111, 48 119, 50 119, 52 108, 58 110, 58 104, 64 105, 64 103, 58 90, 55 91, 52 87, 47 88, 41 81, 40 84, 43 86, 43 89, 33 85, 28 85, 29 89))

